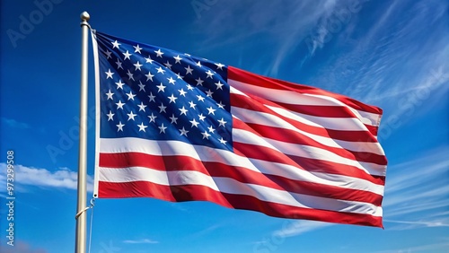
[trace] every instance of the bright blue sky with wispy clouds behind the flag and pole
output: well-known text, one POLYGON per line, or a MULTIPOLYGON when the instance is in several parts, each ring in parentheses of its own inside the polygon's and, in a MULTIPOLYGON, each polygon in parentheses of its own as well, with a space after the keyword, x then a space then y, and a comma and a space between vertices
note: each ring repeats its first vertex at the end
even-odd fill
MULTIPOLYGON (((74 250, 79 15, 87 11, 98 31, 381 107, 379 141, 389 160, 384 230, 202 202, 99 199, 92 252, 447 252, 448 1, 128 2, 1 2, 0 251, 74 250), (5 245, 8 150, 15 163, 14 247, 5 245)), ((92 108, 91 44, 89 50, 92 108)))

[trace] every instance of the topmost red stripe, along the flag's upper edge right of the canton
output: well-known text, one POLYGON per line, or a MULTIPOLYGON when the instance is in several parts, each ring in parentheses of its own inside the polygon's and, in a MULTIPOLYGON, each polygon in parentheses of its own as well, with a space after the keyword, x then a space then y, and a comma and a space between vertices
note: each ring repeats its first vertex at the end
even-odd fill
POLYGON ((366 105, 360 101, 348 98, 346 96, 337 93, 323 91, 321 89, 306 86, 303 84, 290 83, 283 80, 262 76, 259 74, 253 74, 244 71, 242 69, 235 68, 233 66, 228 66, 227 77, 228 79, 232 79, 242 83, 257 85, 259 87, 265 87, 269 89, 329 96, 347 104, 353 109, 359 109, 379 115, 382 115, 383 113, 382 109, 378 107, 366 105))

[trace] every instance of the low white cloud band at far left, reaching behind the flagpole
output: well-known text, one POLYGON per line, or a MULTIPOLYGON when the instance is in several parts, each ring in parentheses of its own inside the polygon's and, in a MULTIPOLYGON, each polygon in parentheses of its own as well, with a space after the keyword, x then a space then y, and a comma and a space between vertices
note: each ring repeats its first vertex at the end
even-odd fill
MULTIPOLYGON (((0 179, 1 182, 6 181, 6 163, 0 163, 0 179)), ((20 186, 16 190, 26 191, 26 186, 34 186, 40 188, 66 188, 76 189, 78 181, 78 173, 67 168, 59 168, 57 170, 39 169, 34 167, 26 167, 22 165, 14 165, 14 184, 20 186)), ((4 190, 5 188, 2 188, 4 190)), ((92 176, 87 177, 87 189, 92 192, 93 179, 92 176)))

